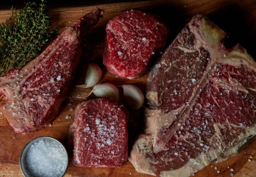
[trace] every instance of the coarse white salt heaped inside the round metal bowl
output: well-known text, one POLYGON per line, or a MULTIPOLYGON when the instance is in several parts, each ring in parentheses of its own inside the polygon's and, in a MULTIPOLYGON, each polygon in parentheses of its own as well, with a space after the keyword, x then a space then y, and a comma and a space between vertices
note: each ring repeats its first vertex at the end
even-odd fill
POLYGON ((33 176, 56 177, 67 166, 67 155, 63 147, 54 141, 41 140, 29 148, 27 168, 33 176))

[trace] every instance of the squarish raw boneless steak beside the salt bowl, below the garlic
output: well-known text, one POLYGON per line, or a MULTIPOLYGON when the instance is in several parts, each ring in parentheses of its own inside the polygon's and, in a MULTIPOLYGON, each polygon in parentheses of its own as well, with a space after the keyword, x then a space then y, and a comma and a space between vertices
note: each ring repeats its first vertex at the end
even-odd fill
POLYGON ((72 163, 83 167, 121 167, 128 155, 129 113, 118 101, 106 98, 77 105, 69 129, 72 163))

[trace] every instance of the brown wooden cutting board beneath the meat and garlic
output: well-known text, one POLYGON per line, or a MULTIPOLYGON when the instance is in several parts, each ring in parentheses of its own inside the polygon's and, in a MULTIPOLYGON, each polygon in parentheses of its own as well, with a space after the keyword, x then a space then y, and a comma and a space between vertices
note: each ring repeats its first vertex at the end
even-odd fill
MULTIPOLYGON (((232 47, 236 43, 240 43, 247 51, 255 57, 255 31, 256 31, 256 1, 253 0, 234 0, 234 1, 193 1, 193 0, 174 0, 174 1, 141 1, 141 2, 124 2, 124 3, 106 3, 90 2, 90 3, 77 3, 77 4, 49 4, 47 7, 47 13, 52 15, 51 24, 52 27, 60 26, 58 31, 60 34, 65 30, 66 26, 69 26, 75 22, 78 18, 84 14, 90 12, 93 7, 99 7, 105 10, 104 19, 101 20, 97 26, 86 36, 86 46, 84 49, 84 56, 81 59, 78 72, 76 73, 75 80, 72 84, 70 93, 68 96, 86 96, 90 92, 90 89, 77 88, 75 85, 83 84, 86 69, 88 64, 93 62, 97 63, 103 71, 103 77, 100 83, 113 83, 114 85, 122 85, 132 83, 137 85, 145 93, 147 75, 134 80, 127 80, 116 78, 102 65, 102 50, 103 41, 105 36, 105 27, 109 19, 121 13, 123 10, 140 8, 151 13, 160 15, 167 23, 170 24, 171 32, 169 44, 174 40, 180 30, 187 24, 193 15, 196 13, 202 13, 207 15, 215 24, 225 30, 230 38, 227 41, 227 46, 232 47), (71 23, 69 23, 69 21, 71 23)), ((4 22, 10 16, 11 5, 0 5, 0 22, 4 22)), ((22 6, 18 6, 22 7, 22 6)), ((120 101, 124 102, 123 93, 120 89, 120 101)), ((94 99, 95 97, 89 97, 94 99)), ((59 115, 52 123, 51 127, 38 130, 31 135, 20 135, 14 133, 12 127, 5 119, 4 115, 0 114, 0 177, 18 177, 22 176, 19 167, 19 157, 22 148, 31 139, 38 136, 51 136, 60 140, 64 145, 67 144, 67 137, 69 132, 69 126, 74 121, 74 109, 76 105, 82 102, 82 99, 76 97, 72 98, 74 101, 70 102, 67 98, 59 112, 59 115), (71 103, 71 106, 67 104, 71 103), (73 108, 72 111, 69 109, 73 108), (70 115, 70 119, 65 119, 65 116, 70 115), (58 121, 58 119, 60 119, 58 121)), ((142 131, 144 126, 143 121, 143 108, 136 111, 130 111, 130 118, 128 124, 129 130, 129 148, 131 149, 132 142, 136 135, 142 131)), ((244 152, 240 152, 235 157, 231 157, 225 162, 220 164, 210 164, 203 170, 200 170, 195 174, 198 177, 221 177, 231 176, 231 173, 235 177, 256 176, 256 140, 253 141, 244 152), (252 156, 252 161, 248 159, 252 156), (229 166, 229 169, 228 169, 229 166), (217 167, 217 170, 214 169, 217 167), (234 171, 231 172, 230 169, 234 171), (217 171, 220 171, 217 173, 217 171)), ((146 174, 139 174, 135 171, 132 164, 127 161, 121 168, 78 168, 73 164, 69 164, 66 177, 106 177, 106 176, 150 176, 146 174)))

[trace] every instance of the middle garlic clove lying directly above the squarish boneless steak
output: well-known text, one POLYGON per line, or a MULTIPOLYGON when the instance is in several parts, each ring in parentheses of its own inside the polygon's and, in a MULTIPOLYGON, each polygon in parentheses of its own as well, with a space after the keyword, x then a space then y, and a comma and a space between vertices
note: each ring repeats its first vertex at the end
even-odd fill
POLYGON ((89 93, 89 95, 91 95, 91 93, 94 93, 94 95, 98 98, 113 98, 114 100, 119 101, 118 89, 111 83, 100 83, 94 85, 93 90, 89 93))

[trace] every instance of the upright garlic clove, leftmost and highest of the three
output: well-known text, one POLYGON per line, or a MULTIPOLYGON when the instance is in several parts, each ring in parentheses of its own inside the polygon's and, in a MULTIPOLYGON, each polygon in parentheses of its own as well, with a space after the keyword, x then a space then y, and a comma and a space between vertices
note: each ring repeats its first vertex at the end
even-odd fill
POLYGON ((101 79, 102 71, 100 67, 95 63, 90 63, 85 76, 85 84, 76 85, 80 88, 89 88, 96 85, 101 79))

